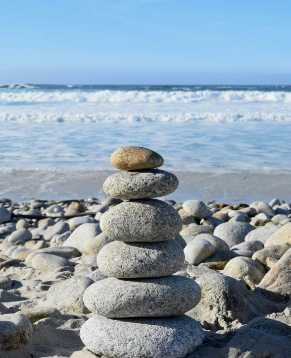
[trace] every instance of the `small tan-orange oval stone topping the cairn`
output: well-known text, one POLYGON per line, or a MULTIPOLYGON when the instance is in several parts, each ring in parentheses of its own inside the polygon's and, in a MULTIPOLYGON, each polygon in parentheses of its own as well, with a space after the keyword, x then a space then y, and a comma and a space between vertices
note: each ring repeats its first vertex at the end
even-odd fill
POLYGON ((112 153, 110 162, 120 170, 138 170, 158 168, 164 164, 164 159, 148 148, 121 147, 112 153))

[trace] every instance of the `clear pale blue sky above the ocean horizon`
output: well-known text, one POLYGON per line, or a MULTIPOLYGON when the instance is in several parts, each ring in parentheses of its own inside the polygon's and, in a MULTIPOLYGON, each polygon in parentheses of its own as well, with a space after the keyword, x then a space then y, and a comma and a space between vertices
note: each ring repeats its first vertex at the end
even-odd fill
POLYGON ((0 83, 291 84, 287 0, 13 0, 0 83))

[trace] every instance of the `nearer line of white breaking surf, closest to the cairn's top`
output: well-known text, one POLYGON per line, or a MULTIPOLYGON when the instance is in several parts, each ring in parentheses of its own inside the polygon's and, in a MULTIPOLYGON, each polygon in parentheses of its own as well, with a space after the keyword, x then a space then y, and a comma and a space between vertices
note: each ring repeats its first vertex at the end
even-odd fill
POLYGON ((119 113, 96 112, 2 112, 0 123, 234 123, 291 122, 290 113, 268 112, 204 112, 204 113, 119 113))

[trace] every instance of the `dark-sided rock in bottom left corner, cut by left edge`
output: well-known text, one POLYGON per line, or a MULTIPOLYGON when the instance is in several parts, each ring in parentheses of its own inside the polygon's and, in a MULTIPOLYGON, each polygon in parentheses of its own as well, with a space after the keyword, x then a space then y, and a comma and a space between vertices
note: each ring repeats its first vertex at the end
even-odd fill
POLYGON ((18 313, 0 316, 0 351, 20 349, 31 339, 32 325, 27 317, 18 313))

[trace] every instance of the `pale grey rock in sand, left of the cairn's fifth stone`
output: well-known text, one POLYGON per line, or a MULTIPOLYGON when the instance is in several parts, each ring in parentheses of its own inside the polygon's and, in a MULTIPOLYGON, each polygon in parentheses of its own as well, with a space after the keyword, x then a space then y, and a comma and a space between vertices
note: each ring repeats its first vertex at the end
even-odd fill
POLYGON ((58 310, 90 313, 83 302, 85 290, 93 283, 89 277, 73 276, 53 284, 46 293, 46 305, 58 310))

